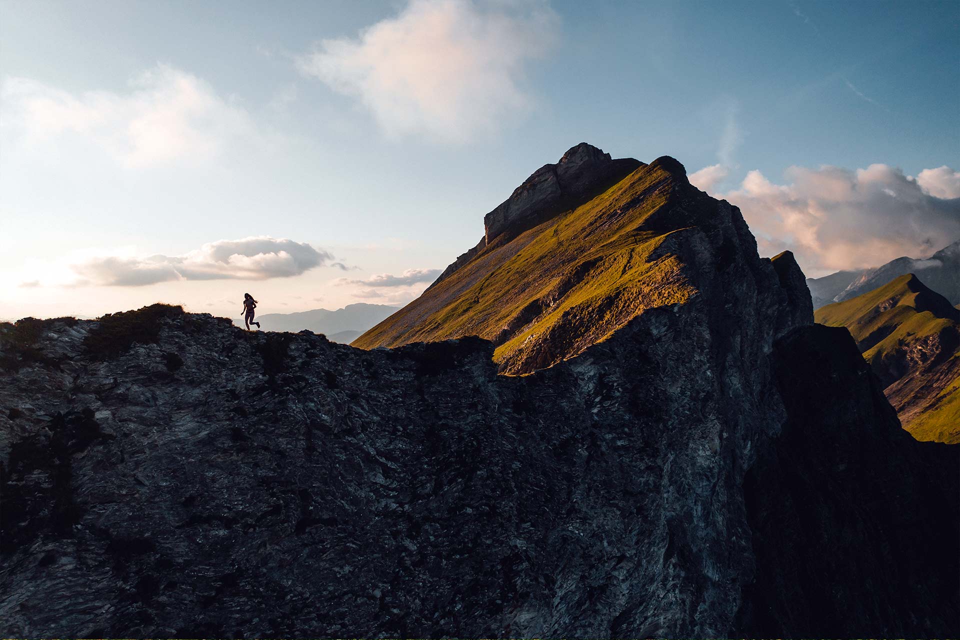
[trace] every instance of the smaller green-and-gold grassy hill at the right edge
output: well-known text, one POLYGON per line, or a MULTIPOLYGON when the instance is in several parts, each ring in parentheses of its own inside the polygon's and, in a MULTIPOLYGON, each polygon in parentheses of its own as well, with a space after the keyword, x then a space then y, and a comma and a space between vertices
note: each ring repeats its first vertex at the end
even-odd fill
POLYGON ((916 439, 960 442, 960 313, 912 273, 815 312, 846 326, 916 439))

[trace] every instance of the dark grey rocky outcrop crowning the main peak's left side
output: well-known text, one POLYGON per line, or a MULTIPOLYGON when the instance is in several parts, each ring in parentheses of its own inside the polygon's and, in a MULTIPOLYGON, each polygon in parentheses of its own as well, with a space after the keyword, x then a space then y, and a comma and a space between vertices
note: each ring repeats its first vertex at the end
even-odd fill
POLYGON ((484 216, 487 244, 504 233, 517 233, 573 208, 642 166, 633 158, 613 160, 586 142, 571 147, 556 164, 545 164, 510 198, 484 216))

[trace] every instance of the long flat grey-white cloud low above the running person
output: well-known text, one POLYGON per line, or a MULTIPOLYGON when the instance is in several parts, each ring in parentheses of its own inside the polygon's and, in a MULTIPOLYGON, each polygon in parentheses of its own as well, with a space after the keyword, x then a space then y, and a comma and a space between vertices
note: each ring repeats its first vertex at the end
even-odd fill
POLYGON ((300 275, 324 266, 332 256, 306 243, 267 236, 218 240, 182 255, 137 255, 128 249, 112 255, 86 251, 56 265, 31 267, 39 280, 24 286, 137 287, 170 280, 264 280, 300 275))

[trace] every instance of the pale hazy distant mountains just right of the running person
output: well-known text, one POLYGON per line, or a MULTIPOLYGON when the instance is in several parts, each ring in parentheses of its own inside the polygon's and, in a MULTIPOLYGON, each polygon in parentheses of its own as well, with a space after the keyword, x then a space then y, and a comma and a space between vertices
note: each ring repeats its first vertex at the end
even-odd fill
POLYGON ((264 314, 257 316, 264 331, 290 331, 297 333, 309 329, 322 333, 334 343, 348 344, 377 322, 395 314, 397 307, 386 304, 358 302, 343 309, 312 309, 293 314, 264 314))

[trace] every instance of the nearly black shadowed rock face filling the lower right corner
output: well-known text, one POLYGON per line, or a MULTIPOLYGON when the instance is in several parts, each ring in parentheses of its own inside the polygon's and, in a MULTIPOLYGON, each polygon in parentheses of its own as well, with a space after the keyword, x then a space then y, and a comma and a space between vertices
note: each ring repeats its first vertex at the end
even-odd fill
POLYGON ((734 635, 957 628, 960 452, 900 429, 843 328, 790 332, 774 374, 787 419, 744 483, 756 575, 734 635))

